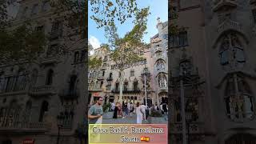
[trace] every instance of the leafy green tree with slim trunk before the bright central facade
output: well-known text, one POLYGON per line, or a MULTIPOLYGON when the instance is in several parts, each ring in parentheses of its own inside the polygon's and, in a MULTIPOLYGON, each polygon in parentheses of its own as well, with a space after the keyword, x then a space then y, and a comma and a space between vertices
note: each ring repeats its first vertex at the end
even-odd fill
POLYGON ((119 102, 122 102, 122 86, 124 70, 127 65, 134 62, 142 61, 144 58, 140 55, 148 45, 143 42, 143 35, 146 34, 146 23, 148 15, 150 14, 150 8, 143 8, 135 13, 134 27, 126 33, 123 38, 115 38, 113 44, 113 50, 110 54, 110 58, 115 62, 117 69, 120 72, 120 93, 119 102))

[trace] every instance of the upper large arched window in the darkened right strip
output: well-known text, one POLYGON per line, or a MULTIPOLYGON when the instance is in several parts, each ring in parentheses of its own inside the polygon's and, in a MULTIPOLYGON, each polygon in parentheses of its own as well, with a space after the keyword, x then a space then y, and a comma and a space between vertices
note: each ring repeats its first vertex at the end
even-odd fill
POLYGON ((246 62, 244 49, 237 34, 226 34, 222 38, 222 43, 219 48, 220 63, 222 66, 230 63, 246 62))

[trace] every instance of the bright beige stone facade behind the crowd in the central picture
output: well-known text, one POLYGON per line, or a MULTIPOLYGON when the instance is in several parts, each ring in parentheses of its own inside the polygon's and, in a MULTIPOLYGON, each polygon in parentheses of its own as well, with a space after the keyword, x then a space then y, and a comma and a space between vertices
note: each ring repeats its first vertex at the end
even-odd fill
MULTIPOLYGON (((127 66, 123 77, 123 102, 146 103, 144 75, 142 71, 146 67, 150 75, 146 76, 146 93, 148 105, 160 105, 162 98, 167 96, 167 23, 160 22, 156 28, 158 34, 150 39, 150 47, 140 54, 144 61, 127 66), (161 83, 161 85, 160 85, 161 83)), ((119 98, 119 70, 110 60, 110 52, 102 48, 94 50, 94 55, 102 58, 102 66, 90 70, 89 99, 90 105, 94 104, 94 98, 101 96, 105 102, 118 102, 119 98)))

